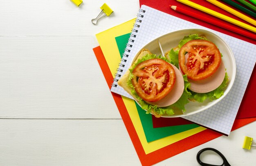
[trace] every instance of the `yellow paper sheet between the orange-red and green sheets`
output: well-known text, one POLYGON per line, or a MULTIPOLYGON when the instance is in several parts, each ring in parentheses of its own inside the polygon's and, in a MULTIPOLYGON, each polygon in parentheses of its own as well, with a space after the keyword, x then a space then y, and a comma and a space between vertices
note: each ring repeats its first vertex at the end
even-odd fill
MULTIPOLYGON (((134 23, 135 19, 132 19, 128 22, 120 24, 96 35, 113 77, 118 67, 118 63, 120 62, 120 54, 115 41, 115 37, 130 33, 134 23)), ((155 140, 153 142, 147 142, 134 100, 128 99, 127 97, 122 97, 122 99, 146 154, 173 144, 177 141, 180 141, 181 139, 184 139, 206 129, 204 127, 197 127, 188 131, 184 131, 182 133, 177 133, 175 135, 170 135, 168 137, 155 140)))

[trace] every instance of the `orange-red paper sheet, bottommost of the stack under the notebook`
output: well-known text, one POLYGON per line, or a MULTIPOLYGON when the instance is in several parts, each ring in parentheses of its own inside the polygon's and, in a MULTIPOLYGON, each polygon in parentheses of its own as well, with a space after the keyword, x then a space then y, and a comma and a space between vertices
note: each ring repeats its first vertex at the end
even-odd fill
MULTIPOLYGON (((99 62, 99 65, 106 79, 106 82, 110 88, 113 77, 110 72, 110 69, 108 68, 108 64, 104 58, 104 55, 101 51, 100 46, 94 48, 93 51, 99 62)), ((130 135, 132 144, 135 147, 139 160, 143 166, 150 166, 150 165, 156 164, 157 162, 161 162, 164 159, 167 159, 169 157, 182 153, 186 150, 189 150, 191 148, 194 148, 196 146, 199 146, 201 144, 204 144, 205 142, 208 142, 212 139, 215 139, 221 136, 221 134, 207 129, 146 155, 141 145, 141 142, 139 141, 139 137, 135 131, 135 128, 132 124, 128 111, 126 110, 126 106, 124 105, 121 95, 112 93, 112 96, 115 100, 115 103, 117 104, 117 108, 124 121, 128 134, 130 135)), ((250 122, 253 122, 255 120, 256 118, 236 119, 232 128, 232 131, 241 126, 249 124, 250 122)))

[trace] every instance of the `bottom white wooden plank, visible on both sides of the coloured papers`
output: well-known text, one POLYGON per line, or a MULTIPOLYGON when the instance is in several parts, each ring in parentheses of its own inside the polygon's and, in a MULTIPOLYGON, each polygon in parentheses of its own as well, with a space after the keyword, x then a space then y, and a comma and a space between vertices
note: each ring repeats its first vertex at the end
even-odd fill
MULTIPOLYGON (((222 152, 232 166, 253 166, 255 151, 242 148, 256 137, 256 123, 159 162, 158 166, 199 166, 205 147, 222 152)), ((218 157, 204 156, 213 164, 218 157)), ((220 163, 217 163, 220 164, 220 163)), ((0 165, 140 165, 122 120, 0 120, 0 165)))

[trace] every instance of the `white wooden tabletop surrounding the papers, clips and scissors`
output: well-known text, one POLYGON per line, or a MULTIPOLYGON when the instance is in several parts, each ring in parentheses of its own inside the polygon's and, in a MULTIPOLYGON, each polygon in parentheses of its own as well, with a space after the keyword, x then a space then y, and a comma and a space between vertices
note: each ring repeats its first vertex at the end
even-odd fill
MULTIPOLYGON (((0 166, 140 165, 92 51, 96 33, 138 10, 138 0, 0 0, 0 166), (114 13, 94 26, 104 2, 114 13)), ((245 135, 256 139, 255 122, 156 165, 199 165, 204 147, 256 165, 245 135)))

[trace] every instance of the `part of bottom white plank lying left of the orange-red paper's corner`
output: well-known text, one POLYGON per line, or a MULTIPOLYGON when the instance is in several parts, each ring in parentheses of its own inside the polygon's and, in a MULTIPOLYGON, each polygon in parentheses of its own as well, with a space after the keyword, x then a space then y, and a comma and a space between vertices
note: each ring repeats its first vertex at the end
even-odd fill
POLYGON ((123 162, 139 165, 122 120, 0 120, 1 166, 123 162))

